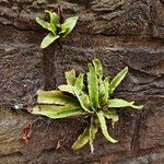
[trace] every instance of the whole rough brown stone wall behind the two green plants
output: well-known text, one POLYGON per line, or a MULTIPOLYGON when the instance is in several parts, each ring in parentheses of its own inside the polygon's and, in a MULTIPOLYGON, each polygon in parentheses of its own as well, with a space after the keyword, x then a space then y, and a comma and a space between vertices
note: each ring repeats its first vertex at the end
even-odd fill
MULTIPOLYGON (((17 163, 164 163, 164 2, 163 0, 61 1, 65 16, 79 15, 75 30, 58 45, 42 50, 45 32, 35 23, 52 0, 0 1, 0 164, 17 163), (140 114, 122 110, 113 129, 118 144, 108 143, 101 131, 95 152, 78 152, 71 144, 86 126, 77 119, 49 120, 13 110, 37 90, 65 83, 65 71, 86 71, 98 58, 105 74, 114 77, 124 67, 129 74, 115 95, 144 104, 140 114), (7 106, 5 106, 7 105, 7 106), (33 124, 28 144, 20 139, 33 124)), ((110 125, 110 122, 108 124, 110 125)))

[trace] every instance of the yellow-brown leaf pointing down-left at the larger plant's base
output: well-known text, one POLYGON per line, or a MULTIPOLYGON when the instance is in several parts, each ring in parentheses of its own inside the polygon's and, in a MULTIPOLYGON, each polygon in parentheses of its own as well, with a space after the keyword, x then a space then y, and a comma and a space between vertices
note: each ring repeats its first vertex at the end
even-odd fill
POLYGON ((85 145, 89 142, 90 138, 90 130, 89 128, 85 128, 83 133, 79 136, 78 140, 73 143, 72 149, 78 150, 85 145))

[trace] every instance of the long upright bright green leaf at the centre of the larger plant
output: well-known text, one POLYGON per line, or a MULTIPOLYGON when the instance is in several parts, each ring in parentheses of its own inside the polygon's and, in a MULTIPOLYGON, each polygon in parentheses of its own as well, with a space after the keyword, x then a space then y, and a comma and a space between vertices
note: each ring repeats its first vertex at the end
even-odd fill
POLYGON ((98 103, 98 80, 95 68, 89 63, 87 87, 90 101, 94 109, 99 107, 98 103))

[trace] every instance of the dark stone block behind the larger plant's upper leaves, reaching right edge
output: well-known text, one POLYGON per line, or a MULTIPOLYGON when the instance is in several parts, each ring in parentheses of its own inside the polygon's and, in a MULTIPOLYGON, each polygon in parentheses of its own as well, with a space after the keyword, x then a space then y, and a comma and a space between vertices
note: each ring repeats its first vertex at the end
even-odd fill
POLYGON ((82 38, 87 39, 87 36, 82 36, 79 39, 73 38, 72 43, 77 43, 73 45, 63 43, 62 51, 57 51, 57 85, 65 83, 65 71, 75 68, 78 72, 85 72, 87 62, 97 57, 105 67, 105 74, 112 77, 117 74, 124 67, 129 67, 129 74, 125 80, 125 84, 118 89, 119 94, 145 98, 150 95, 164 93, 163 48, 150 48, 142 45, 142 43, 140 45, 131 43, 130 46, 126 46, 121 42, 113 46, 114 42, 106 40, 106 37, 98 38, 98 43, 95 42, 94 36, 87 42, 82 40, 82 38), (104 44, 99 44, 101 40, 104 44), (90 47, 92 44, 94 46, 90 47))

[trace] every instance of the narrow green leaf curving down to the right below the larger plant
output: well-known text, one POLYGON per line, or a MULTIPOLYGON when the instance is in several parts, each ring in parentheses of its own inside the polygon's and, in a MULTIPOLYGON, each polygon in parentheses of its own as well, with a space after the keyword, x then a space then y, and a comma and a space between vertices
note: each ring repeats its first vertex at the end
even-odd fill
POLYGON ((117 140, 113 139, 113 138, 108 134, 107 127, 106 127, 106 121, 105 121, 105 117, 104 117, 104 113, 103 113, 102 110, 99 110, 99 112, 97 113, 97 117, 98 117, 99 125, 101 125, 102 132, 103 132, 104 137, 105 137, 108 141, 110 141, 112 143, 118 142, 117 140))

